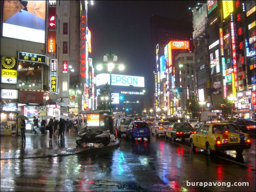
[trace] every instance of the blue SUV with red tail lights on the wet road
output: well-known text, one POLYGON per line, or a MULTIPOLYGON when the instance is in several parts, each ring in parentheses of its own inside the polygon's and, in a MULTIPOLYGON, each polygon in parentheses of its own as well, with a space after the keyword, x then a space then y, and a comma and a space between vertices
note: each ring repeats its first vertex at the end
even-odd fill
POLYGON ((130 138, 131 141, 134 141, 134 138, 147 138, 147 141, 150 142, 150 134, 147 122, 143 121, 131 122, 125 131, 126 140, 130 138))

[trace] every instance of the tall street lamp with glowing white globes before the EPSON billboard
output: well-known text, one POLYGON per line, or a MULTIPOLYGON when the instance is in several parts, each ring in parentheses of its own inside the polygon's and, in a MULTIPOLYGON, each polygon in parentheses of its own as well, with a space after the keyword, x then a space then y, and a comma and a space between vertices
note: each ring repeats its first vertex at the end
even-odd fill
POLYGON ((112 77, 111 77, 111 73, 112 70, 114 69, 115 65, 119 65, 118 68, 119 70, 124 70, 124 65, 122 64, 114 64, 111 63, 111 57, 113 56, 113 62, 117 62, 117 55, 111 54, 111 52, 109 52, 109 54, 105 54, 103 57, 103 61, 107 62, 108 61, 108 57, 109 57, 109 63, 103 63, 103 64, 99 64, 97 66, 97 70, 102 70, 102 65, 108 65, 108 71, 109 71, 109 111, 110 111, 110 115, 112 115, 112 77))

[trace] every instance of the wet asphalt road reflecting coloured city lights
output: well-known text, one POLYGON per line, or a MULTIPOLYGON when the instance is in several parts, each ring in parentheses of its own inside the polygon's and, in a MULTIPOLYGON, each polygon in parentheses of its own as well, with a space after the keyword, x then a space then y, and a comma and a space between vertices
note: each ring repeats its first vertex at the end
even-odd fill
POLYGON ((119 141, 118 149, 106 153, 3 159, 1 191, 255 191, 255 140, 239 157, 233 151, 193 153, 188 141, 155 136, 151 142, 119 141), (249 187, 192 182, 248 182, 249 187))

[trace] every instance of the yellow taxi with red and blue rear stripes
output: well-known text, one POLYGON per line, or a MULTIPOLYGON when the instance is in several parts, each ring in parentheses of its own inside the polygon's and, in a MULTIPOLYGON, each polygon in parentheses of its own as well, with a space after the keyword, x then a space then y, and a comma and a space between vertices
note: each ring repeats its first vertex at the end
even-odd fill
POLYGON ((244 149, 250 149, 252 143, 247 133, 242 133, 235 124, 220 121, 210 121, 201 125, 196 133, 189 137, 192 150, 196 147, 212 151, 236 150, 242 154, 244 149))

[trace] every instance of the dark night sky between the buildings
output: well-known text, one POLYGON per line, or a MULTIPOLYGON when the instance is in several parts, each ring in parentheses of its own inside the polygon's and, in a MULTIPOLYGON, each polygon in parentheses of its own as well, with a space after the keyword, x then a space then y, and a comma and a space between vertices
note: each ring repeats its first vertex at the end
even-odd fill
MULTIPOLYGON (((91 31, 94 68, 103 62, 105 53, 115 53, 117 63, 122 63, 125 70, 116 68, 112 74, 142 76, 145 89, 154 90, 154 53, 150 46, 150 17, 159 15, 169 18, 186 18, 197 3, 207 1, 94 1, 88 4, 88 27, 91 31)), ((112 58, 113 59, 113 58, 112 58)), ((99 73, 108 73, 97 71, 99 73)), ((143 89, 143 88, 142 88, 143 89)))

